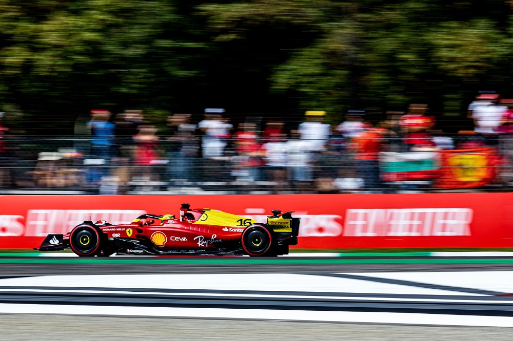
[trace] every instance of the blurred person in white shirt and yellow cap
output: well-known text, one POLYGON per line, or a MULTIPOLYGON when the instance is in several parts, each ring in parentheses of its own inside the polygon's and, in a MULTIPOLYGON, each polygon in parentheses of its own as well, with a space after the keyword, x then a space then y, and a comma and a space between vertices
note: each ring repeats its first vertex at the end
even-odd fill
POLYGON ((324 116, 325 111, 307 111, 305 122, 299 124, 300 139, 308 141, 312 151, 325 151, 331 136, 331 125, 323 123, 324 116))

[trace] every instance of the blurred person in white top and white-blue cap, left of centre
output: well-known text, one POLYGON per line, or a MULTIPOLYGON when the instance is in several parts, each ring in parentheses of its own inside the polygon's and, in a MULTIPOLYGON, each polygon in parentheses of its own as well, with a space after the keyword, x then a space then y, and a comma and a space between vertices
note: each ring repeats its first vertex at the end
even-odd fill
POLYGON ((218 158, 224 155, 227 139, 233 125, 222 117, 224 109, 205 109, 205 119, 198 123, 203 133, 202 156, 204 158, 218 158))

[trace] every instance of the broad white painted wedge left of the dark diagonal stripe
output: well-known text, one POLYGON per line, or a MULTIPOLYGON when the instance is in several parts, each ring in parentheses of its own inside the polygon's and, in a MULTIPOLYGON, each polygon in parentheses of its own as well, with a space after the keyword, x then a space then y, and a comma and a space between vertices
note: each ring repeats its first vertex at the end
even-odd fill
MULTIPOLYGON (((445 272, 431 273, 443 283, 445 272)), ((504 278, 508 276, 504 275, 504 278)), ((512 272, 513 273, 513 272, 512 272)), ((368 274, 371 276, 371 274, 368 274)), ((414 274, 411 274, 413 276, 414 274)), ((464 275, 460 272, 460 275, 464 275)), ((440 283, 439 283, 440 284, 440 283)), ((58 275, 0 279, 0 286, 299 291, 373 294, 488 296, 360 279, 295 273, 58 275)), ((509 292, 509 291, 505 291, 509 292)))

